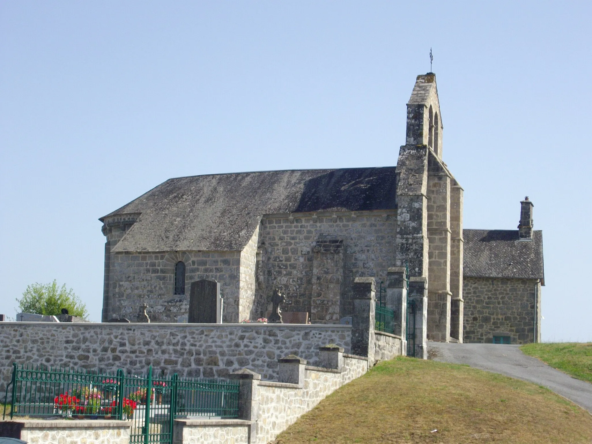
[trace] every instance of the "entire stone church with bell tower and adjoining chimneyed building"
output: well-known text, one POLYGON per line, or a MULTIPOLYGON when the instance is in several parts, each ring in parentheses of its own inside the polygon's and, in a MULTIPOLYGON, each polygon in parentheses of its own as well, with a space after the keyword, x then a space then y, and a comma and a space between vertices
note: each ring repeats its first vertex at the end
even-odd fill
MULTIPOLYGON (((355 278, 393 276, 425 340, 540 338, 542 234, 532 203, 517 231, 463 230, 463 189, 442 160, 433 73, 417 76, 397 166, 224 173, 169 179, 100 218, 102 320, 186 321, 192 282, 217 281, 222 321, 284 312, 311 323, 352 313, 355 278), (530 218, 529 218, 530 217, 530 218)), ((379 291, 379 289, 377 289, 379 291)), ((382 294, 382 293, 381 293, 382 294)), ((401 308, 406 310, 406 307, 401 308)), ((404 316, 403 316, 404 318, 404 316)))

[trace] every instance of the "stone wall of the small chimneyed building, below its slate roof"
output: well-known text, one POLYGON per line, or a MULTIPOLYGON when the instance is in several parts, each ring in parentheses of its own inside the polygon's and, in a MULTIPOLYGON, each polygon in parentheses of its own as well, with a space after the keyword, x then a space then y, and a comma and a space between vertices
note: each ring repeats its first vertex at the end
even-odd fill
POLYGON ((536 279, 463 279, 464 342, 491 343, 510 336, 513 344, 533 342, 536 279))

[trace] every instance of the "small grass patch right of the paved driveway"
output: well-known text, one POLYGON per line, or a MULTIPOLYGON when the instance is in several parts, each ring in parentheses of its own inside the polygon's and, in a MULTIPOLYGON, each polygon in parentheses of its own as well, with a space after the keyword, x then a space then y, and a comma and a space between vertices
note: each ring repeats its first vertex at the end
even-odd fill
POLYGON ((574 378, 592 382, 592 343, 590 342, 526 344, 520 347, 520 350, 574 378))

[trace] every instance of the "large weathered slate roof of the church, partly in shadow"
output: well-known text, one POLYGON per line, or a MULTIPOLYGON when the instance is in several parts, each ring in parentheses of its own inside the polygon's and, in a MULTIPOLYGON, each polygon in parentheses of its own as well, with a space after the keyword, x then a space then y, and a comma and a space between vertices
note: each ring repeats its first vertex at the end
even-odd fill
POLYGON ((392 210, 395 196, 394 166, 189 176, 99 220, 141 213, 113 252, 237 251, 263 214, 392 210))

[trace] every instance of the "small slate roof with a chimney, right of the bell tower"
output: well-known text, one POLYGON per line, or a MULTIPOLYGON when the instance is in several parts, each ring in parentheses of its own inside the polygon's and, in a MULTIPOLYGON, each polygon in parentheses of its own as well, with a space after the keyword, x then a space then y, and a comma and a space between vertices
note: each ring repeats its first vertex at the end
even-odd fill
POLYGON ((463 275, 480 278, 542 279, 543 232, 518 240, 518 230, 462 230, 465 239, 463 275))

